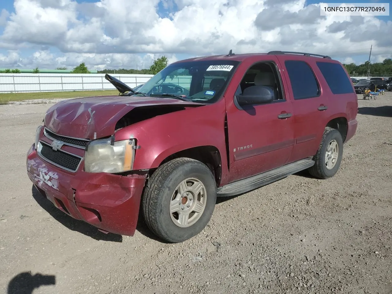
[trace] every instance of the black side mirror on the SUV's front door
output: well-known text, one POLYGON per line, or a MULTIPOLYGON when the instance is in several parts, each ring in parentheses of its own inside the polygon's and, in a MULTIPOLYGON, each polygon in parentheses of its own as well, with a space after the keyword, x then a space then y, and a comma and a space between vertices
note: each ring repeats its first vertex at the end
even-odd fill
POLYGON ((238 104, 267 104, 274 101, 274 90, 267 86, 247 87, 242 94, 237 96, 238 104))

